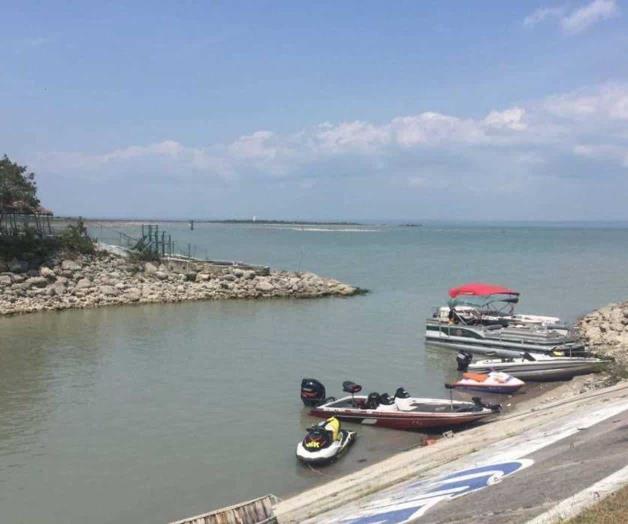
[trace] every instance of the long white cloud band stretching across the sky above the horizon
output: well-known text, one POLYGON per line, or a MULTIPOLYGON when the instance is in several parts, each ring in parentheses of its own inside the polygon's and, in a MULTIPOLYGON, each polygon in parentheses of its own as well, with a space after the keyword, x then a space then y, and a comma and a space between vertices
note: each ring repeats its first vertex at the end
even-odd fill
MULTIPOLYGON (((605 84, 478 118, 424 112, 383 123, 327 122, 287 134, 260 130, 226 144, 188 146, 164 140, 104 153, 51 152, 39 155, 33 167, 100 179, 124 174, 303 181, 316 180, 313 173, 346 173, 399 177, 407 186, 434 187, 436 178, 443 183, 470 167, 479 173, 518 170, 523 180, 550 173, 557 161, 588 158, 617 167, 628 164, 627 121, 628 84, 605 84)), ((313 182, 301 187, 310 186, 313 182)))

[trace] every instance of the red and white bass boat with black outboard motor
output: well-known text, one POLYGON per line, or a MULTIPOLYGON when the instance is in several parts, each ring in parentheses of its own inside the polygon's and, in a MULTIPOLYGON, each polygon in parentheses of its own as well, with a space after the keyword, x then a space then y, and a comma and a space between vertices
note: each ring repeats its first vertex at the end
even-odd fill
POLYGON ((499 405, 483 404, 478 397, 472 402, 449 399, 415 398, 398 388, 391 397, 387 393, 358 395, 362 386, 343 382, 349 395, 340 399, 325 397, 325 386, 316 379, 301 382, 301 400, 316 417, 394 429, 451 429, 484 419, 498 412, 499 405))

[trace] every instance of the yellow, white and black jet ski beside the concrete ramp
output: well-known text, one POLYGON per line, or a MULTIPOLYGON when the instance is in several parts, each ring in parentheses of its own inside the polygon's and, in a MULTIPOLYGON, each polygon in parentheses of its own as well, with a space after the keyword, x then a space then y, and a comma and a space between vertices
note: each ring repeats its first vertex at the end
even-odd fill
POLYGON ((355 431, 340 427, 336 417, 330 417, 307 429, 297 444, 297 458, 305 464, 329 464, 340 457, 355 441, 355 431))

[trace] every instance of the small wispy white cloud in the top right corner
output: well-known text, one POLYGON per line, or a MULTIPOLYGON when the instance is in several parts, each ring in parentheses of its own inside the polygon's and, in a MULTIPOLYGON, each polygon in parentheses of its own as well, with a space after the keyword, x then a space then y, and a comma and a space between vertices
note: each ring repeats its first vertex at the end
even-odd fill
POLYGON ((616 0, 593 0, 575 9, 566 6, 540 7, 525 17, 523 25, 533 27, 554 20, 565 33, 577 34, 618 15, 616 0))

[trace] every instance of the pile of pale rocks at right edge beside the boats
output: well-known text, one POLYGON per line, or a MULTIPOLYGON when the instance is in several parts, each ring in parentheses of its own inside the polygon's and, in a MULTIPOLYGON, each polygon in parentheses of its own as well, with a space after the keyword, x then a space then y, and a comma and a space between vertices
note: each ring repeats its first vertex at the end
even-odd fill
POLYGON ((628 370, 628 302, 609 304, 582 317, 578 330, 595 353, 628 370))

